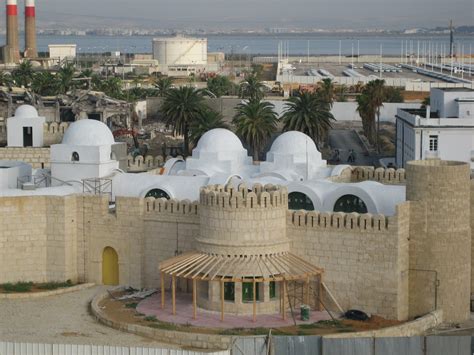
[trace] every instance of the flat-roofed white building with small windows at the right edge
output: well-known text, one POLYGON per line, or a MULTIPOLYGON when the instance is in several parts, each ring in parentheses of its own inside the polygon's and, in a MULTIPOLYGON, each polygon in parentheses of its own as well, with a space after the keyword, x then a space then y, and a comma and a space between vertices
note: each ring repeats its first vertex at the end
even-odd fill
POLYGON ((474 168, 474 90, 431 90, 426 109, 398 109, 396 164, 440 158, 469 162, 474 168))

